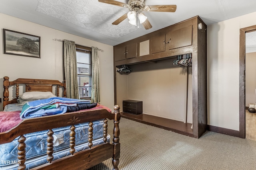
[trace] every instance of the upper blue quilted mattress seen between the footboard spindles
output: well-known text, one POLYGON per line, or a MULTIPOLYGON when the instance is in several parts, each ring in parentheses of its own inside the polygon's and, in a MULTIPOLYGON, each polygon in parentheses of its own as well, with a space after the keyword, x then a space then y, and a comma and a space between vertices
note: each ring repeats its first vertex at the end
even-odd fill
MULTIPOLYGON (((93 139, 94 141, 100 139, 103 136, 103 120, 93 121, 93 139)), ((75 125, 76 129, 76 147, 78 149, 78 145, 82 145, 84 143, 88 143, 88 122, 80 123, 75 125)), ((69 133, 70 126, 60 127, 52 129, 54 131, 54 154, 55 157, 63 157, 64 149, 69 148, 69 133), (63 152, 62 152, 63 151, 63 152)), ((35 133, 28 133, 24 135, 26 137, 26 162, 30 162, 30 160, 39 158, 40 156, 46 154, 47 150, 47 132, 48 131, 40 131, 35 133)), ((4 169, 5 166, 13 164, 11 161, 18 161, 17 158, 17 149, 18 146, 18 137, 14 139, 14 141, 10 143, 5 143, 0 145, 0 169, 4 169), (9 162, 8 162, 9 161, 9 162)), ((84 147, 87 147, 84 146, 84 147)), ((47 157, 47 156, 46 156, 47 157)), ((46 158, 45 158, 46 159, 46 158)), ((42 160, 40 159, 40 162, 42 160)), ((45 162, 44 162, 45 163, 45 162)))

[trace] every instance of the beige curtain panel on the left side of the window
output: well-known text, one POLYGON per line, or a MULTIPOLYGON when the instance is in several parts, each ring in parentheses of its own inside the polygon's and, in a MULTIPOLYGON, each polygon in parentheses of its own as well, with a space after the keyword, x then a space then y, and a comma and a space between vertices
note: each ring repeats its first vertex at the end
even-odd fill
POLYGON ((76 45, 74 41, 66 39, 63 41, 64 74, 67 98, 79 99, 76 70, 76 45))

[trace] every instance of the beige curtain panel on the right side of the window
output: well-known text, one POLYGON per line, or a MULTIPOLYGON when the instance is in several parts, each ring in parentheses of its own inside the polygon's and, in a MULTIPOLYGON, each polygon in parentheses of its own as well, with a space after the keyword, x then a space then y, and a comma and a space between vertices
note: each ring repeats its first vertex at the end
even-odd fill
POLYGON ((92 102, 100 103, 100 69, 98 48, 92 47, 92 102))

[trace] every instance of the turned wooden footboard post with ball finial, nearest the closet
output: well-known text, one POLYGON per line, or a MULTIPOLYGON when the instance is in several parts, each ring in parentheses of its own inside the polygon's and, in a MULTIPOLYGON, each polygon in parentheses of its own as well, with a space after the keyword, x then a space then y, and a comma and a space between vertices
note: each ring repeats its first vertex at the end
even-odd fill
POLYGON ((113 130, 113 143, 114 143, 114 154, 112 159, 113 170, 118 170, 119 157, 120 157, 120 143, 119 143, 119 121, 121 118, 121 114, 119 112, 120 107, 118 105, 114 106, 114 130, 113 130))

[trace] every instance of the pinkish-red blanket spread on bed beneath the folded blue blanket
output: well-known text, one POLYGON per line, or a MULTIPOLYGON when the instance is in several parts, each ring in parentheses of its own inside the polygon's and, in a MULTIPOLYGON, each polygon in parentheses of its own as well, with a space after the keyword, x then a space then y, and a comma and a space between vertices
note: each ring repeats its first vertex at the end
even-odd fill
MULTIPOLYGON (((97 104, 96 107, 85 110, 95 110, 95 109, 106 109, 111 113, 111 109, 106 106, 97 104)), ((8 131, 12 127, 18 125, 22 119, 20 119, 21 111, 0 111, 0 133, 8 131)), ((64 113, 65 114, 65 113, 64 113)))

